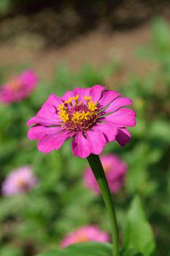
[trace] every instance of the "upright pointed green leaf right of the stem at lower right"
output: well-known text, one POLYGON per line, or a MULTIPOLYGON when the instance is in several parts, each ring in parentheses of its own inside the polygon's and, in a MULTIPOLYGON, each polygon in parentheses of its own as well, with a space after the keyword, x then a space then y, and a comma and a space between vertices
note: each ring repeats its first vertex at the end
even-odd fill
POLYGON ((134 197, 131 208, 128 211, 125 228, 125 248, 134 249, 144 256, 151 255, 155 249, 152 228, 147 222, 139 196, 134 197))

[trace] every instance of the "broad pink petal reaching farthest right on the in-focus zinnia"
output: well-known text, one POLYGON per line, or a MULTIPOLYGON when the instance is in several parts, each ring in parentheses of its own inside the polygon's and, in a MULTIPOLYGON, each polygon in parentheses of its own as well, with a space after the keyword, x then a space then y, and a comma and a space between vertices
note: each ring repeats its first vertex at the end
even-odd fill
POLYGON ((115 124, 116 127, 134 127, 136 124, 136 113, 128 108, 120 108, 104 118, 115 124))

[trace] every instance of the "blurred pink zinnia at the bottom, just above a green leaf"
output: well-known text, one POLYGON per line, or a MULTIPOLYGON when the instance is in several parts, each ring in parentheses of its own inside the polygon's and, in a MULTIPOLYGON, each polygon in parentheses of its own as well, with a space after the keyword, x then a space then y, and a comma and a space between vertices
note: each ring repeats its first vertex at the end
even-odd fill
POLYGON ((109 235, 99 230, 96 226, 80 227, 76 231, 70 233, 66 238, 63 238, 61 247, 69 246, 70 244, 83 243, 87 241, 108 242, 109 235))

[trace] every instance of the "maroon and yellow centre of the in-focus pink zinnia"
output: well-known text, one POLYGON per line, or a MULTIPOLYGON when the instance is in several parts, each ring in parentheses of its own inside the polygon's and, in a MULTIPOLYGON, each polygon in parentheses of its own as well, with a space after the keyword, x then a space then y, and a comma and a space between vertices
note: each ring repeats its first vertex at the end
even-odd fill
POLYGON ((86 95, 83 99, 85 99, 85 103, 79 101, 79 95, 76 95, 57 108, 62 126, 66 129, 76 131, 88 129, 98 118, 97 102, 93 102, 92 97, 86 95))

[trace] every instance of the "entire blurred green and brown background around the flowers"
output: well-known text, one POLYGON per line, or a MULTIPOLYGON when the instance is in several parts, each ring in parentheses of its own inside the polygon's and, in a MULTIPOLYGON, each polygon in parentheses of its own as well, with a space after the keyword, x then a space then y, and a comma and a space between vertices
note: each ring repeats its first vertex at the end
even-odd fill
POLYGON ((121 243, 131 201, 139 195, 158 255, 170 255, 169 21, 165 0, 0 0, 1 86, 25 69, 39 77, 29 97, 0 104, 0 187, 24 165, 39 179, 30 192, 1 193, 0 256, 57 249, 83 225, 109 233, 101 197, 83 183, 86 160, 72 156, 69 141, 45 155, 27 138, 26 121, 51 93, 94 84, 131 97, 137 113, 131 142, 104 150, 128 166, 124 187, 114 195, 121 243))

